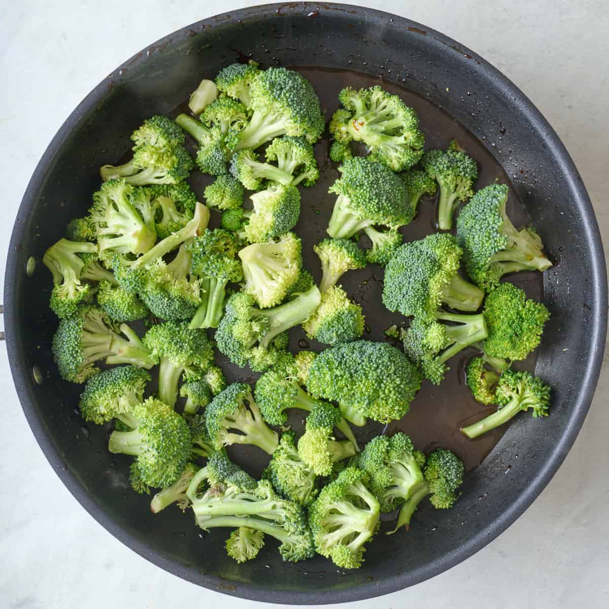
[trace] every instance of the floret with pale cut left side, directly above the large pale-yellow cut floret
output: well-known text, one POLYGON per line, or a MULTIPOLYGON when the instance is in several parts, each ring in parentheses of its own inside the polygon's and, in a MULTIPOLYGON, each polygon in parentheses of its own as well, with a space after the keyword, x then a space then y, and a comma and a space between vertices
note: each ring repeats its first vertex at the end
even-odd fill
POLYGON ((250 243, 261 243, 292 230, 300 216, 300 192, 295 186, 269 184, 263 191, 250 195, 253 209, 244 210, 247 223, 244 237, 250 243))

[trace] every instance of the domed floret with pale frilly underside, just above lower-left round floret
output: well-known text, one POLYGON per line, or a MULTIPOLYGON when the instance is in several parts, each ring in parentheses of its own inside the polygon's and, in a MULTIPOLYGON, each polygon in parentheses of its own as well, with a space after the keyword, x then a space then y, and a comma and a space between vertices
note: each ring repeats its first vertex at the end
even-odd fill
POLYGON ((119 366, 92 376, 80 394, 80 412, 85 421, 102 424, 119 418, 135 426, 132 410, 143 402, 149 373, 135 366, 119 366))

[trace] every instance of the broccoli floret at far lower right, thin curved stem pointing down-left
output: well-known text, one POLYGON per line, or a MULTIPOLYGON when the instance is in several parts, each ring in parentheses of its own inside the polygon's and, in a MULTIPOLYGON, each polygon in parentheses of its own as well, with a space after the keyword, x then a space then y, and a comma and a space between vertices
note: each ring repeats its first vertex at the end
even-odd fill
POLYGON ((387 535, 395 533, 400 527, 410 526, 410 519, 417 509, 417 505, 429 496, 429 501, 437 510, 446 510, 452 507, 459 498, 457 489, 463 482, 463 463, 454 453, 437 448, 429 454, 423 469, 423 481, 410 489, 398 513, 398 522, 395 529, 387 535))

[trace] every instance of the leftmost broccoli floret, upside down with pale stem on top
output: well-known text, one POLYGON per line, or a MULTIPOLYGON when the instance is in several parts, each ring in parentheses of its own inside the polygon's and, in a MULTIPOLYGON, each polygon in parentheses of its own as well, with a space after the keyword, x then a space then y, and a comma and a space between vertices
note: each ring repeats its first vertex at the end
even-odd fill
POLYGON ((53 275, 50 305, 58 317, 74 314, 77 305, 92 294, 91 286, 80 281, 85 267, 81 253, 95 255, 97 245, 60 239, 44 252, 42 260, 53 275))

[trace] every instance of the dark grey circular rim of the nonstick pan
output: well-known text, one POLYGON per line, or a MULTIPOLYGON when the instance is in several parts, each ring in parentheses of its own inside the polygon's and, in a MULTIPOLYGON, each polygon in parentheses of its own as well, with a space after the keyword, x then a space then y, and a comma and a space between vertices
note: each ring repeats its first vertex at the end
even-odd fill
MULTIPOLYGON (((555 159, 560 164, 563 175, 569 181, 571 192, 576 194, 574 205, 577 206, 582 215, 583 233, 590 238, 592 253, 590 267, 591 275, 595 278, 595 281, 591 289, 591 294, 593 296, 593 305, 591 306, 592 332, 590 336, 588 362, 585 375, 583 375, 581 381, 582 390, 571 406, 572 414, 569 423, 563 428, 563 432, 554 445, 553 451, 545 457, 543 468, 541 468, 535 481, 533 481, 526 490, 516 496, 512 503, 495 518, 490 526, 480 530, 476 535, 463 543, 462 546, 449 554, 428 561, 423 565, 419 565, 417 568, 407 573, 398 574, 379 582, 358 586, 356 588, 323 592, 273 591, 253 584, 239 583, 233 586, 231 585, 231 582, 227 582, 227 580, 222 579, 222 577, 206 576, 195 569, 187 568, 178 560, 152 551, 146 543, 123 529, 114 519, 108 516, 102 507, 100 507, 100 505, 98 505, 87 493, 79 479, 66 467, 60 452, 52 443, 51 438, 46 434, 43 420, 37 415, 34 407, 34 398, 30 390, 32 381, 30 380, 31 373, 27 366, 26 354, 13 337, 13 328, 15 327, 14 324, 17 319, 17 303, 11 298, 11 295, 14 291, 14 286, 17 283, 16 278, 18 273, 23 272, 23 269, 18 266, 17 253, 18 245, 22 241, 22 234, 24 231, 24 224, 20 224, 18 221, 15 223, 9 245, 4 286, 5 335, 10 369, 27 422, 32 429, 38 445, 42 449, 55 473, 57 473, 58 477, 74 498, 76 498, 85 510, 90 513, 99 524, 107 529, 113 537, 117 538, 127 547, 130 547, 130 549, 155 565, 160 566, 166 571, 188 580, 189 582, 205 586, 206 588, 224 594, 229 594, 230 596, 281 604, 329 604, 335 602, 351 602, 402 590, 403 588, 423 582, 426 579, 452 568, 452 566, 469 558, 504 532, 507 527, 514 523, 516 519, 524 513, 537 496, 540 495, 543 488, 546 487, 560 467, 566 454, 568 454, 569 449, 574 443, 590 407, 594 390, 596 389, 604 353, 605 334, 607 331, 607 273, 600 231, 590 198, 588 197, 582 178, 580 177, 574 162, 569 156, 565 146, 558 138, 557 133, 554 132, 554 129, 548 124, 535 105, 533 105, 532 102, 509 79, 507 79, 507 77, 499 72, 498 69, 462 44, 446 37, 442 33, 436 32, 434 29, 416 23, 415 21, 410 21, 410 19, 376 9, 332 3, 324 4, 323 9, 320 5, 314 4, 266 4, 223 13, 222 15, 213 16, 189 26, 182 27, 175 32, 169 33, 155 43, 150 44, 147 49, 163 48, 163 46, 177 44, 179 41, 192 35, 193 30, 225 27, 227 23, 238 23, 238 21, 244 21, 246 19, 247 21, 264 19, 268 18, 271 13, 275 13, 278 16, 306 16, 314 10, 344 13, 345 15, 349 15, 350 18, 353 18, 353 15, 356 15, 369 21, 392 20, 393 27, 404 30, 408 28, 410 32, 418 30, 421 32, 421 35, 424 32, 425 35, 432 38, 434 41, 437 41, 437 43, 443 44, 447 49, 447 52, 450 52, 451 48, 453 51, 454 49, 458 49, 454 52, 463 55, 466 54, 471 57, 475 62, 475 67, 471 65, 471 59, 466 60, 465 56, 463 57, 463 61, 470 62, 468 64, 470 69, 484 72, 485 78, 494 82, 496 85, 499 85, 500 88, 509 93, 510 96, 515 97, 521 111, 526 115, 527 121, 533 124, 538 132, 543 132, 548 149, 552 150, 555 159)), ((143 51, 125 61, 121 66, 116 68, 116 70, 111 72, 109 76, 103 79, 99 85, 97 85, 91 93, 77 105, 74 111, 72 111, 63 125, 59 128, 57 134, 54 136, 38 162, 37 167, 32 174, 32 178, 30 178, 29 184, 27 185, 21 205, 19 206, 18 217, 27 216, 33 206, 35 206, 37 192, 40 190, 43 183, 46 169, 52 162, 54 155, 61 149, 63 142, 71 130, 77 127, 77 125, 80 124, 80 121, 90 114, 100 98, 107 93, 108 86, 112 86, 114 82, 121 81, 121 75, 124 69, 139 65, 141 62, 145 62, 146 58, 146 49, 143 49, 143 51)))

